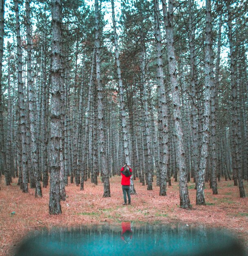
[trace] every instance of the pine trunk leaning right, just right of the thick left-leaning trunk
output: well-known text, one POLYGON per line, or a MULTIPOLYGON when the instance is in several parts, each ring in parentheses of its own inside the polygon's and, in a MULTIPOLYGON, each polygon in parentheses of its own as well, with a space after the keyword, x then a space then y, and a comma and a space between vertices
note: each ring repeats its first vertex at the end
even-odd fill
POLYGON ((211 0, 206 0, 206 50, 205 50, 205 104, 204 104, 204 126, 201 148, 201 159, 198 172, 196 204, 206 205, 204 196, 204 185, 206 175, 206 164, 208 157, 209 125, 210 125, 210 87, 211 87, 211 0))

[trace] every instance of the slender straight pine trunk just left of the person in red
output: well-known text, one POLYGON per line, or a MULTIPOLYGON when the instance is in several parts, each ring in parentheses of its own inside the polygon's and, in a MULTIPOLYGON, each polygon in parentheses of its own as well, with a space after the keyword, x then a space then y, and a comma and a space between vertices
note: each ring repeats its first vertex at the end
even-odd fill
POLYGON ((98 126, 99 126, 99 144, 100 144, 100 166, 102 169, 102 180, 104 183, 103 197, 110 197, 109 170, 106 165, 106 151, 104 141, 104 120, 103 120, 103 100, 102 100, 102 81, 100 70, 100 27, 99 27, 99 6, 98 0, 95 0, 95 48, 96 48, 96 80, 97 80, 97 103, 98 103, 98 126))

